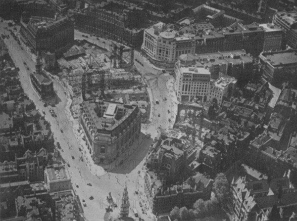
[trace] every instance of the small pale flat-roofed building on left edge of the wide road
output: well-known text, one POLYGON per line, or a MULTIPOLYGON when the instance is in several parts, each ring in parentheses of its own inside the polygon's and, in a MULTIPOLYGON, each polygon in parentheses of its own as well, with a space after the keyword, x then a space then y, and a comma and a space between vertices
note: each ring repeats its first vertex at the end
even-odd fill
POLYGON ((49 187, 49 192, 70 190, 72 188, 69 172, 64 165, 46 167, 45 182, 49 187))

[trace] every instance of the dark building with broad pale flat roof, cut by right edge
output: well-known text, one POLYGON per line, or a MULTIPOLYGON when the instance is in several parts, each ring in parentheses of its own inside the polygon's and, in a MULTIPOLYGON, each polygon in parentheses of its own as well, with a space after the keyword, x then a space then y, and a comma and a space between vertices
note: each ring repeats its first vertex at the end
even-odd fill
POLYGON ((281 88, 285 82, 297 85, 297 53, 292 50, 264 51, 259 56, 263 77, 281 88))

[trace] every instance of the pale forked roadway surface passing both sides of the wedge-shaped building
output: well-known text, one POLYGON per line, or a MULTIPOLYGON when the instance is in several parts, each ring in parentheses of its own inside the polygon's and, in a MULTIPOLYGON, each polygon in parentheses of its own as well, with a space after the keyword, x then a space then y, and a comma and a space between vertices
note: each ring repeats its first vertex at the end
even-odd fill
MULTIPOLYGON (((1 23, 1 33, 4 32, 4 27, 7 27, 7 24, 1 23)), ((10 33, 6 31, 5 34, 10 33)), ((104 41, 107 42, 108 40, 104 41)), ((124 164, 120 167, 117 165, 117 167, 106 173, 102 167, 93 163, 86 142, 82 139, 81 133, 78 132, 79 123, 73 119, 69 110, 72 101, 67 96, 68 91, 63 88, 57 79, 53 78, 57 104, 55 107, 44 107, 44 103, 32 88, 29 80, 29 74, 35 71, 34 61, 28 52, 22 50, 21 46, 12 37, 6 41, 6 44, 12 60, 20 69, 19 77, 25 93, 34 101, 41 114, 43 110, 46 112, 45 118, 50 122, 55 143, 60 143, 62 147, 61 155, 70 164, 68 171, 73 183, 73 189, 79 195, 80 200, 86 200, 87 207, 83 208, 85 219, 87 221, 105 221, 110 217, 116 218, 119 214, 119 207, 114 209, 113 213, 106 213, 105 208, 108 207, 106 197, 108 192, 111 192, 113 201, 120 205, 126 183, 130 208, 136 208, 139 216, 145 221, 155 220, 149 208, 146 208, 147 202, 144 195, 145 167, 143 165, 148 153, 148 147, 152 142, 152 139, 146 137, 145 134, 150 133, 152 138, 157 137, 160 128, 165 129, 173 126, 177 113, 177 99, 172 87, 173 77, 168 73, 164 74, 162 71, 152 68, 149 62, 145 61, 139 52, 135 51, 135 58, 144 64, 142 66, 135 62, 135 66, 144 75, 151 89, 151 124, 142 127, 143 134, 140 136, 139 141, 131 147, 131 153, 128 152, 127 156, 125 156, 124 164), (27 66, 24 65, 24 62, 26 62, 27 66), (27 67, 29 70, 27 70, 27 67), (159 104, 156 104, 156 100, 159 101, 159 104), (49 108, 55 111, 56 118, 49 114, 49 108), (171 120, 169 121, 169 119, 171 120), (74 159, 72 159, 72 156, 74 159), (80 157, 83 158, 83 161, 80 160, 80 157), (75 183, 79 187, 76 187, 75 183), (87 185, 87 183, 91 183, 92 186, 87 185), (139 194, 135 193, 136 190, 139 194), (91 195, 94 197, 93 200, 89 199, 91 195), (143 208, 147 215, 142 213, 139 202, 144 205, 143 208)), ((129 216, 138 219, 134 216, 132 210, 129 216)))

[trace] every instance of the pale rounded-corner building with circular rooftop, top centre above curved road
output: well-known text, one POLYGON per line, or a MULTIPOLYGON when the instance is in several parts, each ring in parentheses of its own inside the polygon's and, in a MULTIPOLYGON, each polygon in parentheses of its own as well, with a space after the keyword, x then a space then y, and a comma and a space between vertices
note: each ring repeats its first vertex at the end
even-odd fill
POLYGON ((195 35, 179 36, 178 31, 172 28, 158 22, 144 32, 142 50, 157 66, 173 67, 181 54, 195 53, 195 35))

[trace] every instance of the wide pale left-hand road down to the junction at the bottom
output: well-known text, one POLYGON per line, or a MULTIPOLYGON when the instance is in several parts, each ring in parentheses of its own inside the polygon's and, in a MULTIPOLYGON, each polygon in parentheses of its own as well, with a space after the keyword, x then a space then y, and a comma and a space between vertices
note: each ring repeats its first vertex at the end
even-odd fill
MULTIPOLYGON (((0 24, 0 33, 4 33, 4 27, 7 27, 6 23, 0 24)), ((5 31, 5 34, 10 34, 5 31)), ((6 39, 5 39, 6 41, 6 39)), ((19 67, 19 77, 22 82, 25 93, 28 94, 30 99, 32 99, 36 105, 36 108, 46 112, 45 118, 51 124, 51 130, 54 133, 55 143, 58 141, 62 147, 61 155, 66 162, 69 162, 70 167, 68 171, 71 176, 71 181, 73 183, 74 191, 79 195, 81 203, 84 198, 87 203, 87 207, 84 207, 84 216, 86 220, 89 221, 106 221, 108 217, 116 218, 119 214, 119 208, 115 209, 113 213, 106 213, 105 208, 107 207, 106 196, 108 192, 111 192, 113 200, 117 205, 119 205, 123 188, 125 183, 127 183, 130 208, 136 208, 141 218, 146 221, 154 220, 150 211, 148 215, 142 214, 142 208, 139 205, 141 198, 144 195, 144 171, 143 162, 140 159, 144 159, 145 151, 134 151, 130 158, 125 161, 121 168, 116 168, 112 173, 105 173, 99 166, 95 166, 92 163, 86 163, 88 158, 88 150, 85 145, 82 145, 83 151, 79 151, 79 143, 84 143, 82 139, 79 142, 76 139, 73 127, 76 129, 77 122, 74 120, 68 120, 67 109, 69 106, 69 101, 67 103, 66 91, 63 90, 62 86, 53 79, 54 90, 58 97, 58 103, 55 107, 44 107, 44 103, 40 100, 39 95, 36 93, 34 88, 31 86, 29 80, 29 75, 35 71, 35 63, 30 58, 25 50, 22 50, 20 45, 12 38, 12 36, 6 41, 9 53, 15 65, 19 67), (25 65, 24 62, 27 64, 25 65), (29 70, 27 70, 27 67, 29 70), (57 115, 53 118, 49 114, 49 108, 53 109, 57 115), (61 130, 63 133, 61 133, 61 130), (84 154, 84 152, 87 154, 84 154), (74 159, 72 159, 72 156, 74 159), (84 161, 79 160, 79 157, 83 156, 84 161), (92 167, 93 171, 90 171, 92 167), (96 172, 94 173, 94 168, 96 172), (140 174, 138 173, 140 171, 140 174), (94 174, 97 174, 94 175, 94 174), (87 183, 92 183, 92 186, 87 185, 87 183), (78 187, 76 187, 76 184, 78 187), (135 190, 138 190, 139 194, 135 194, 135 190), (93 195, 94 200, 90 200, 89 197, 93 195)), ((71 119, 71 117, 70 117, 71 119)), ((79 137, 79 135, 78 135, 79 137)), ((149 146, 151 139, 145 138, 143 143, 139 146, 149 146)), ((139 147, 138 147, 139 148, 139 147)), ((83 204, 83 203, 82 203, 83 204)), ((143 203, 144 204, 144 203, 143 203)), ((130 211, 129 216, 134 217, 132 211, 130 211)), ((135 218, 135 217, 134 217, 135 218)))

